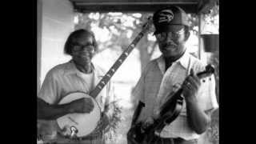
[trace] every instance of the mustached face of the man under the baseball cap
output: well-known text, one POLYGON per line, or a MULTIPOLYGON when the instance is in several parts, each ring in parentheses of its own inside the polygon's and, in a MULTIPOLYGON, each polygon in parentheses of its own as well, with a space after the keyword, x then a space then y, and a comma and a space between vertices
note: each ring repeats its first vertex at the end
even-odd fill
POLYGON ((155 36, 159 49, 166 58, 179 56, 186 50, 185 26, 172 25, 168 31, 155 34, 155 36))

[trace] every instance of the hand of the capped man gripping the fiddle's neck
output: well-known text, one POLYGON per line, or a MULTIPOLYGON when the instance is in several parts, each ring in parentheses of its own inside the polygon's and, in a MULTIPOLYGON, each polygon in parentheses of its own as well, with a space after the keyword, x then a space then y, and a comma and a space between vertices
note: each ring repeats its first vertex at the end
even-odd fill
POLYGON ((194 70, 190 70, 190 75, 182 84, 184 98, 186 98, 186 100, 194 99, 200 86, 200 79, 194 74, 194 70))

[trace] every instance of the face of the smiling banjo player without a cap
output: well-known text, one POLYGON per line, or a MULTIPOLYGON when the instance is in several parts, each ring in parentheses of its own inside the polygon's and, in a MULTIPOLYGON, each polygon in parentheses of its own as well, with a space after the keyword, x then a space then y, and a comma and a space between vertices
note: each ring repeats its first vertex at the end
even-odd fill
POLYGON ((91 58, 94 55, 93 37, 88 35, 83 38, 78 38, 72 48, 72 59, 80 66, 90 64, 91 58))

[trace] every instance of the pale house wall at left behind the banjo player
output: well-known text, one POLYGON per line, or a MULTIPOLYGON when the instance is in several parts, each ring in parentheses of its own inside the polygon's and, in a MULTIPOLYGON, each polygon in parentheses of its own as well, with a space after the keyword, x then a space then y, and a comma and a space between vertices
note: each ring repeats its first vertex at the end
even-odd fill
POLYGON ((38 89, 46 73, 70 59, 63 53, 66 38, 74 30, 74 10, 69 0, 38 0, 38 89), (40 22, 41 21, 41 22, 40 22), (40 29, 41 27, 41 29, 40 29))

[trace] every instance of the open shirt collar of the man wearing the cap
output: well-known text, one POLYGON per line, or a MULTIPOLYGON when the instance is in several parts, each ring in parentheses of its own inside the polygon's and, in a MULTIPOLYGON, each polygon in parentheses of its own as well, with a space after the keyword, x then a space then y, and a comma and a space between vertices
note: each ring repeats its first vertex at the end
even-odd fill
MULTIPOLYGON (((159 58, 157 58, 157 62, 158 62, 158 67, 161 70, 162 74, 165 74, 166 62, 163 58, 163 55, 161 55, 159 58)), ((186 50, 185 53, 182 55, 182 57, 178 58, 178 60, 175 61, 174 63, 180 64, 181 66, 183 66, 186 69, 189 65, 189 62, 190 62, 190 54, 186 50)))

